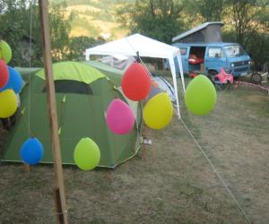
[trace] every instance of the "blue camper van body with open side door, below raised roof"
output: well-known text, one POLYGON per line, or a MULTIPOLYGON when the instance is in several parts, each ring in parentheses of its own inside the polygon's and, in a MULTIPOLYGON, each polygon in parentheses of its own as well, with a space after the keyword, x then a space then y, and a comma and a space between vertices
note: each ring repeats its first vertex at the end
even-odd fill
MULTIPOLYGON (((185 74, 204 73, 215 75, 221 67, 238 77, 250 73, 251 59, 247 52, 236 43, 176 43, 181 53, 185 74)), ((178 65, 178 60, 175 59, 178 65)), ((178 66, 176 66, 178 69, 178 66)), ((178 71, 177 71, 178 73, 178 71)))

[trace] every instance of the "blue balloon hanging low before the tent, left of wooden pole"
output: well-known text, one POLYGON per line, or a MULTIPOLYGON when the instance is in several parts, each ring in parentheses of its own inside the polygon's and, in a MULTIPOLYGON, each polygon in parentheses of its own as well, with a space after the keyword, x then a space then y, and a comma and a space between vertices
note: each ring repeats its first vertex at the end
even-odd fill
POLYGON ((43 145, 37 138, 30 138, 22 144, 21 158, 29 164, 35 165, 43 158, 43 145))

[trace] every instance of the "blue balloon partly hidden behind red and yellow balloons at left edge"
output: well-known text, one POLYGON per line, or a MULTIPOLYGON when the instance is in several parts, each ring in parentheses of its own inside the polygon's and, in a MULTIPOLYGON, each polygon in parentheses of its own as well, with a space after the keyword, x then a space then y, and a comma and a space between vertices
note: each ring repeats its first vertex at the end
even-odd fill
POLYGON ((22 90, 22 75, 14 70, 11 66, 8 66, 9 79, 3 88, 0 88, 0 91, 13 89, 15 93, 19 93, 22 90))

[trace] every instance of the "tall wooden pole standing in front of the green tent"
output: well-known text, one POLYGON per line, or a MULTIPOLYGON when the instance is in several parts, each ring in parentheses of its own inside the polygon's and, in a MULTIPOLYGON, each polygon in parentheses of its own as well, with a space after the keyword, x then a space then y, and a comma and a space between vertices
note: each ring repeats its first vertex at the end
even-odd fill
POLYGON ((61 148, 58 136, 58 122, 56 112, 56 96, 53 79, 51 47, 50 47, 50 31, 48 20, 48 2, 47 0, 39 0, 39 15, 41 22, 41 39, 43 44, 43 59, 45 67, 45 75, 47 80, 47 104, 50 121, 50 136, 52 142, 52 154, 54 159, 54 169, 56 176, 56 215, 60 224, 67 224, 67 210, 65 205, 65 187, 61 159, 61 148))

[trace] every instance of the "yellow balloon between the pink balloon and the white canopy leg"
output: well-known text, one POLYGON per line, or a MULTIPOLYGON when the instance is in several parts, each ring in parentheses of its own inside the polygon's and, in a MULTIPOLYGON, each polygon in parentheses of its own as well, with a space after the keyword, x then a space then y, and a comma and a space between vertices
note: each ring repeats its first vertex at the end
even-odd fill
POLYGON ((166 92, 150 99, 143 108, 143 121, 152 129, 161 129, 169 125, 173 116, 173 106, 166 92))

